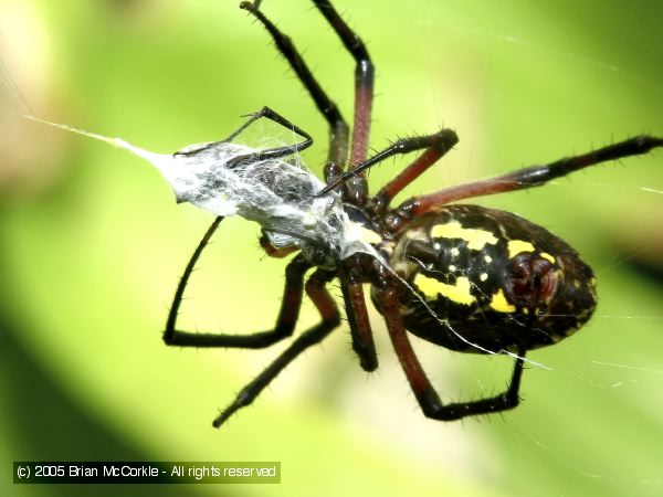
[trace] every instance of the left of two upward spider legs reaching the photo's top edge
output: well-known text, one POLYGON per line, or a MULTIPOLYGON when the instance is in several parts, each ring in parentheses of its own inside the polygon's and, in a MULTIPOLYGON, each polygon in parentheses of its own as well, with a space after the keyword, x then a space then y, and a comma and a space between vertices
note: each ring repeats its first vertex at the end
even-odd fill
POLYGON ((325 166, 325 179, 336 179, 344 168, 348 152, 348 125, 343 118, 336 104, 327 96, 313 73, 297 52, 291 39, 283 34, 260 10, 259 2, 242 2, 240 8, 249 11, 267 30, 274 44, 288 62, 306 91, 313 98, 317 109, 329 125, 329 156, 325 166))

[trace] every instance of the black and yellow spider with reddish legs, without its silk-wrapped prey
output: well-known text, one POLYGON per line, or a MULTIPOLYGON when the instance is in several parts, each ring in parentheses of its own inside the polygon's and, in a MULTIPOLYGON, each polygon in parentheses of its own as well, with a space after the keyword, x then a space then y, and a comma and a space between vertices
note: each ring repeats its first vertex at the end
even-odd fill
MULTIPOLYGON (((186 266, 168 315, 164 341, 179 347, 269 347, 293 334, 304 292, 317 308, 320 321, 295 338, 246 384, 214 419, 213 426, 219 427, 238 410, 251 404, 287 364, 339 326, 340 314, 327 289, 335 278, 340 283, 352 349, 361 368, 366 371, 378 368, 362 289, 362 284, 368 283, 370 297, 385 318, 398 359, 425 416, 452 421, 515 408, 520 400, 518 390, 526 353, 557 343, 587 322, 597 304, 596 279, 579 254, 544 228, 511 212, 452 202, 539 187, 589 166, 646 154, 663 146, 663 138, 633 137, 547 165, 414 197, 391 207, 391 200, 403 188, 456 145, 456 134, 441 129, 432 135, 399 139, 368 157, 375 67, 360 38, 329 0, 313 0, 356 62, 350 136, 350 128, 334 101, 313 76, 291 39, 265 17, 260 3, 260 0, 244 1, 240 7, 266 29, 329 126, 324 188, 298 193, 299 197, 291 201, 311 203, 336 195, 347 219, 371 234, 367 239, 371 250, 344 253, 330 240, 303 235, 306 226, 295 226, 298 230, 294 233, 263 224, 260 242, 267 255, 284 257, 298 252, 285 268, 283 300, 274 328, 251 335, 179 330, 177 317, 185 288, 198 258, 223 220, 217 216, 186 266), (369 194, 367 169, 388 157, 415 151, 420 155, 375 195, 369 194), (443 403, 412 349, 408 331, 455 351, 511 355, 515 364, 508 387, 494 396, 443 403)), ((229 144, 261 117, 292 129, 305 138, 304 141, 244 154, 222 167, 236 170, 260 167, 265 159, 294 155, 313 142, 305 131, 265 107, 227 140, 178 154, 194 156, 209 151, 214 145, 229 144)), ((278 178, 274 176, 277 175, 270 171, 265 175, 266 181, 276 181, 278 178)))

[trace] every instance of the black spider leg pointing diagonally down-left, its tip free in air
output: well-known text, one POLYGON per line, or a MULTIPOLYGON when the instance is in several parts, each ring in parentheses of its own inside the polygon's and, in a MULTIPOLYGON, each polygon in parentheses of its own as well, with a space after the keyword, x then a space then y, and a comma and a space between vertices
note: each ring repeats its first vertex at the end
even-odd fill
POLYGON ((212 425, 221 426, 238 410, 251 404, 263 389, 278 376, 293 360, 295 360, 308 347, 318 343, 329 332, 340 324, 340 315, 336 303, 325 285, 330 282, 336 274, 317 269, 306 282, 306 294, 313 300, 320 313, 323 320, 304 331, 291 346, 285 349, 267 368, 262 371, 257 378, 244 387, 236 395, 235 400, 219 414, 212 425))

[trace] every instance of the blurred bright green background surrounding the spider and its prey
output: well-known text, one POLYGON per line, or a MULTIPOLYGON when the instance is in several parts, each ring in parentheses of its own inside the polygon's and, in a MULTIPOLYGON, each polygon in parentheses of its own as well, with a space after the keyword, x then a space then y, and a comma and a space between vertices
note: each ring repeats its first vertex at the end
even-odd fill
MULTIPOLYGON (((319 175, 325 124, 236 3, 2 1, 0 56, 35 114, 155 151, 222 138, 240 116, 269 105, 316 138, 305 159, 319 175)), ((377 65, 372 147, 441 126, 460 135, 409 194, 643 131, 663 135, 660 1, 337 7, 377 65)), ((349 119, 352 63, 311 2, 265 0, 263 10, 349 119)), ((2 108, 20 109, 3 89, 2 108)), ((359 368, 344 325, 214 431, 217 409, 287 343, 162 345, 175 285, 211 215, 177 205, 159 175, 123 150, 10 113, 1 119, 2 495, 185 491, 12 486, 11 462, 20 459, 282 463, 281 485, 187 495, 663 493, 663 154, 477 200, 552 230, 599 278, 593 320, 530 353, 550 369, 525 372, 517 410, 448 424, 424 419, 373 311, 377 373, 359 368)), ((404 163, 371 171, 373 189, 404 163)), ((256 237, 254 224, 224 222, 187 294, 190 329, 272 325, 284 263, 265 257, 256 237)), ((307 304, 301 327, 315 320, 307 304)), ((414 345, 445 400, 507 381, 507 358, 414 345)))

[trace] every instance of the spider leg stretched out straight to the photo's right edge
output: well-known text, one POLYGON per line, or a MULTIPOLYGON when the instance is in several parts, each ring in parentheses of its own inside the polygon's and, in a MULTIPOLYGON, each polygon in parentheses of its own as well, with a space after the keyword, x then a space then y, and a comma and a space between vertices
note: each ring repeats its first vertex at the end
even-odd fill
POLYGON ((387 224, 392 231, 398 231, 412 218, 435 210, 449 202, 540 187, 552 179, 567 176, 589 166, 648 154, 656 147, 663 147, 663 138, 638 136, 587 154, 559 159, 548 165, 532 166, 495 178, 445 188, 434 193, 406 200, 390 214, 387 224))

